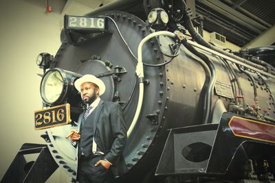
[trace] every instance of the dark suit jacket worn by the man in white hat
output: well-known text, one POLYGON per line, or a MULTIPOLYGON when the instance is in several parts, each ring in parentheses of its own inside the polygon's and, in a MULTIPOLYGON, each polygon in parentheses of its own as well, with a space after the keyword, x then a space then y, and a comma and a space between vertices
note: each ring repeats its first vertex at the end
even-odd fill
MULTIPOLYGON (((127 170, 122 156, 127 135, 124 115, 120 105, 100 99, 93 113, 94 115, 89 115, 86 121, 95 121, 94 139, 96 144, 104 152, 104 158, 113 164, 111 166, 113 175, 122 175, 127 170)), ((83 114, 80 114, 78 122, 81 122, 82 119, 83 114)), ((80 126, 80 123, 78 125, 80 126)))

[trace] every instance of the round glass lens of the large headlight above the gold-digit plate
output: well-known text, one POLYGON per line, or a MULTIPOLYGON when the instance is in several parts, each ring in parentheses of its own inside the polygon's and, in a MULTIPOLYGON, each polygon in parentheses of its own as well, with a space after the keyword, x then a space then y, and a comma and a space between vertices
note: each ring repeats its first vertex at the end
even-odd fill
POLYGON ((41 97, 45 103, 56 102, 63 92, 64 80, 59 71, 51 70, 45 74, 41 82, 41 97))

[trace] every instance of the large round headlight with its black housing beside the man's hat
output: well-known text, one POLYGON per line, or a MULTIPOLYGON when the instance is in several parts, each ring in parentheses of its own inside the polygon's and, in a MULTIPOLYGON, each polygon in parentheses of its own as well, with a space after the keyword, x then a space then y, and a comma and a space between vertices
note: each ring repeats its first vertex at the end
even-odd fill
POLYGON ((78 92, 74 81, 82 75, 63 69, 50 69, 41 80, 40 94, 45 103, 50 106, 63 103, 78 92))

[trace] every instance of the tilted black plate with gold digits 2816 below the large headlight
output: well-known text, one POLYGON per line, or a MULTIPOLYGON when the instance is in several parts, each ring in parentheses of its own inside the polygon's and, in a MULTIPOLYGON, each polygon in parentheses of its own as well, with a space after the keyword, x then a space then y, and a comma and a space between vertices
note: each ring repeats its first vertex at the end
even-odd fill
POLYGON ((71 122, 69 103, 34 111, 34 129, 67 125, 71 122))

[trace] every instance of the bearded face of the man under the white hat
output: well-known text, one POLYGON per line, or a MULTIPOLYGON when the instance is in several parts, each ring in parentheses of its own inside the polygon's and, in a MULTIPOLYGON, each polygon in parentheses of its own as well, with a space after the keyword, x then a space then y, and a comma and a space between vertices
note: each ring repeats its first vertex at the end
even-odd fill
POLYGON ((80 93, 84 103, 91 104, 98 98, 99 89, 91 82, 85 82, 80 86, 80 93))

